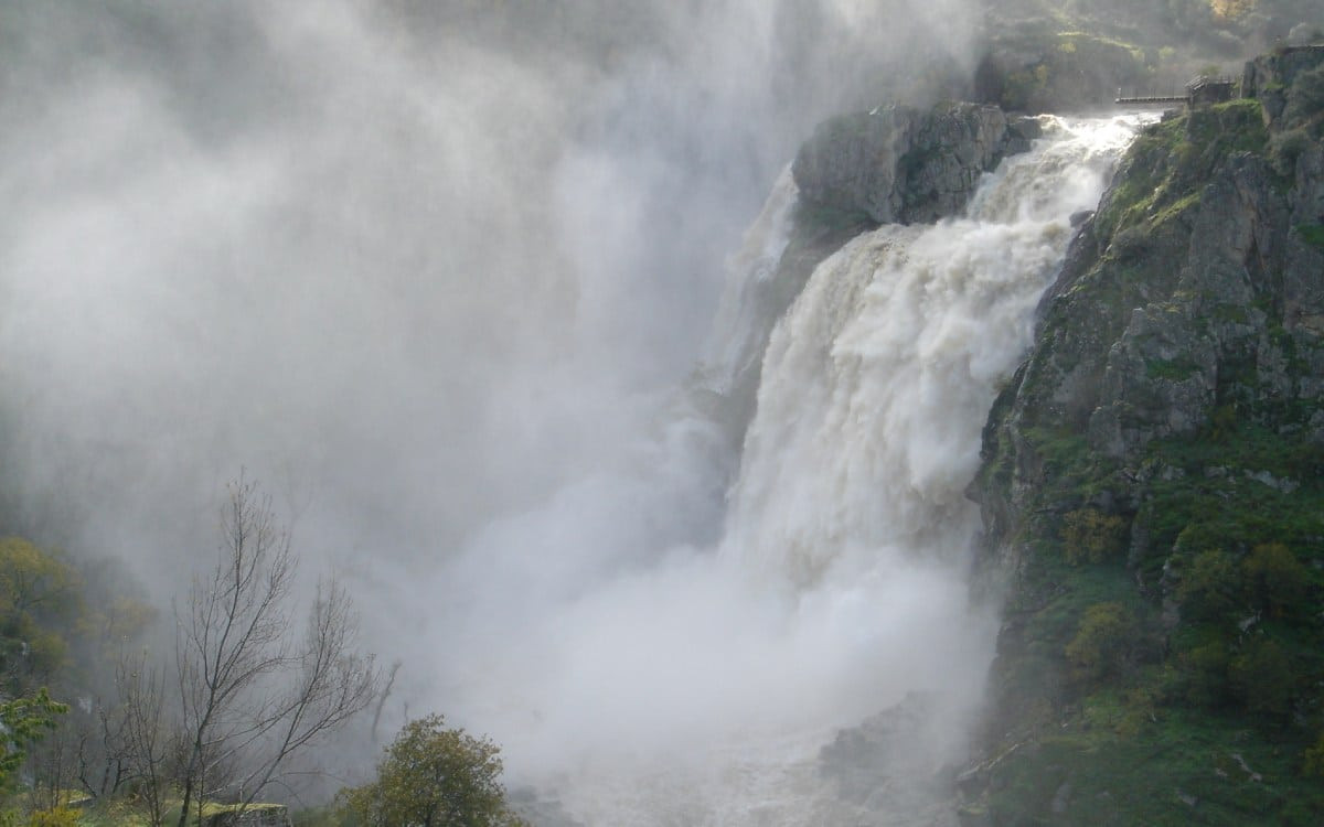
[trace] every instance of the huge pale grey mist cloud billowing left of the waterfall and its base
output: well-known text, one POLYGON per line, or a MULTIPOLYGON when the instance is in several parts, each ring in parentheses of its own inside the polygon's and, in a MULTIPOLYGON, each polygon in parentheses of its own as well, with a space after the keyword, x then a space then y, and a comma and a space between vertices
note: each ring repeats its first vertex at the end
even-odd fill
POLYGON ((772 728, 824 675, 873 675, 838 699, 867 713, 892 685, 870 652, 925 668, 851 635, 960 585, 743 584, 714 552, 732 458, 673 390, 798 140, 959 86, 968 4, 33 0, 0 24, 8 531, 169 594, 246 466, 405 662, 396 700, 535 779, 772 728))

